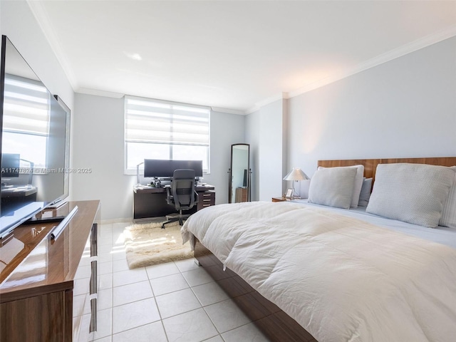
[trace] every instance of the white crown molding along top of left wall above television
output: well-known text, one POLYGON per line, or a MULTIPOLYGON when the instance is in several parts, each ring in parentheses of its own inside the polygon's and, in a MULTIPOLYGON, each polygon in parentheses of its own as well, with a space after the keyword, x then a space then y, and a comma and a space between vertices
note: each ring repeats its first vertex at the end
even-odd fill
POLYGON ((51 50, 56 56, 58 63, 60 63, 63 73, 65 73, 66 78, 68 78, 71 88, 73 88, 74 91, 78 88, 78 81, 73 73, 73 68, 71 68, 71 64, 65 57, 65 53, 63 53, 63 48, 61 48, 61 44, 58 41, 56 33, 54 33, 55 30, 51 25, 51 21, 49 20, 48 15, 46 14, 46 9, 44 9, 43 3, 41 1, 33 0, 26 0, 26 3, 28 4, 28 7, 30 8, 33 16, 35 17, 38 26, 40 26, 41 31, 43 31, 44 36, 46 37, 49 45, 51 46, 51 50))

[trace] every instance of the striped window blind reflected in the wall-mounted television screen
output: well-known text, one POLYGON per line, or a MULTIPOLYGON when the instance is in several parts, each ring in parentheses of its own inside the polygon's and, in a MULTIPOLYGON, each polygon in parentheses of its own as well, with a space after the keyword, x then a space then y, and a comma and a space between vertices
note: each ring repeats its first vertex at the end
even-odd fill
POLYGON ((5 75, 3 129, 48 136, 49 93, 42 83, 5 75))

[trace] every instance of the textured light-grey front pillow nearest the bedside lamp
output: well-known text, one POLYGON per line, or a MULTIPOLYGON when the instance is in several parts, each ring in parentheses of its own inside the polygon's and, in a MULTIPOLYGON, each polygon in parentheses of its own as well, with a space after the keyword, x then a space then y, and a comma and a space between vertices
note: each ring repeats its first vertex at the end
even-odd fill
POLYGON ((318 167, 311 178, 309 202, 349 209, 355 177, 355 167, 318 167))

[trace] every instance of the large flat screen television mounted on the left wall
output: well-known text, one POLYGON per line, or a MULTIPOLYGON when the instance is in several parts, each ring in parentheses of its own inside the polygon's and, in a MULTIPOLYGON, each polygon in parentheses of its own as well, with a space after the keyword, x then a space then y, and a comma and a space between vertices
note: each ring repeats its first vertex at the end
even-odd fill
POLYGON ((68 197, 70 110, 6 36, 0 68, 0 238, 68 197), (19 165, 18 165, 19 163, 19 165), (14 167, 12 167, 14 165, 14 167))

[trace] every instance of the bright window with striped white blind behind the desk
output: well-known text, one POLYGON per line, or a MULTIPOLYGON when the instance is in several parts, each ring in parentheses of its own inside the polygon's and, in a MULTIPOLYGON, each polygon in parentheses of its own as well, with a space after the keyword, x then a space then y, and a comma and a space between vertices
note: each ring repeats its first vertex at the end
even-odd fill
POLYGON ((202 160, 209 173, 210 109, 125 96, 125 171, 145 159, 202 160))

